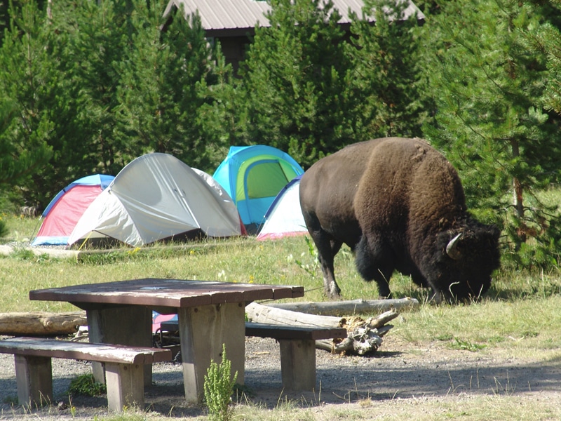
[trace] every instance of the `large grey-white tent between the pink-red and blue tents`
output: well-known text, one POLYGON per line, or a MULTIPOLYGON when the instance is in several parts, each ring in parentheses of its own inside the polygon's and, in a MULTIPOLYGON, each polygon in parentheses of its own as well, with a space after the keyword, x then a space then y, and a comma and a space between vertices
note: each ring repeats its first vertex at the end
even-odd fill
POLYGON ((245 234, 231 198, 169 154, 147 154, 128 163, 90 204, 69 245, 116 239, 143 246, 182 236, 245 234))

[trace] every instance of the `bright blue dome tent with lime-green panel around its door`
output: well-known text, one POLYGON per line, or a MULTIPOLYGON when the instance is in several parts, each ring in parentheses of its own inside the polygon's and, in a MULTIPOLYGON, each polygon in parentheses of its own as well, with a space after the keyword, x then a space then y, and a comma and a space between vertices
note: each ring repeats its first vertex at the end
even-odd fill
POLYGON ((303 173, 292 156, 275 147, 232 146, 212 178, 226 189, 242 222, 252 229, 262 224, 278 192, 303 173))

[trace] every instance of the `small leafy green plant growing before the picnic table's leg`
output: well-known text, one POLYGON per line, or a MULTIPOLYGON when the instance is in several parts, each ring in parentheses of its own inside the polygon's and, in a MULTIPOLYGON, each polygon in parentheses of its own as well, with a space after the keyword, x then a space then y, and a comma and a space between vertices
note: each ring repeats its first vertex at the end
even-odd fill
POLYGON ((210 361, 205 375, 205 401, 210 421, 229 421, 232 416, 231 396, 238 372, 231 378, 231 361, 226 356, 226 345, 222 344, 222 363, 210 361))

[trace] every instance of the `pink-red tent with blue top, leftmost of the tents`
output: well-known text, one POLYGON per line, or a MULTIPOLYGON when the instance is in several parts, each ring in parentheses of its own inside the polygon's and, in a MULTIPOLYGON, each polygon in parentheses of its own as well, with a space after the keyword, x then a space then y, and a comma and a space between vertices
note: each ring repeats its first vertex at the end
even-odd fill
POLYGON ((113 179, 113 175, 88 175, 60 190, 43 210, 43 222, 31 245, 66 246, 78 220, 113 179))

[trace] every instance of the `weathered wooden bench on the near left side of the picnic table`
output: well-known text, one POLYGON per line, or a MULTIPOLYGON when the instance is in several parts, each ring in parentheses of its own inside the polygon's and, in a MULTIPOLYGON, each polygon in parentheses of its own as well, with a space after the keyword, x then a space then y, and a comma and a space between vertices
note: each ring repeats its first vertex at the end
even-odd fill
POLYGON ((0 340, 0 353, 14 354, 18 401, 27 407, 52 403, 52 358, 104 363, 107 404, 114 412, 124 406, 144 409, 144 364, 172 358, 169 349, 39 338, 0 340))

